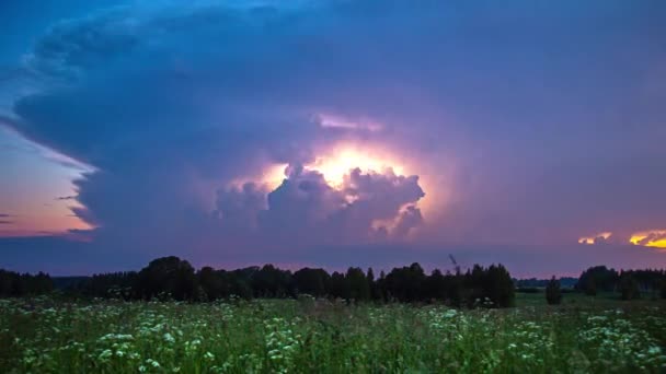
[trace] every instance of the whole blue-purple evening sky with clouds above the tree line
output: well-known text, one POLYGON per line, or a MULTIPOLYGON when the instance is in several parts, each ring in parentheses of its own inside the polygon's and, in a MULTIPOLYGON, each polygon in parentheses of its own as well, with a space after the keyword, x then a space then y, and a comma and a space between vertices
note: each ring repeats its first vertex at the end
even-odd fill
POLYGON ((666 267, 663 1, 4 1, 0 267, 666 267))

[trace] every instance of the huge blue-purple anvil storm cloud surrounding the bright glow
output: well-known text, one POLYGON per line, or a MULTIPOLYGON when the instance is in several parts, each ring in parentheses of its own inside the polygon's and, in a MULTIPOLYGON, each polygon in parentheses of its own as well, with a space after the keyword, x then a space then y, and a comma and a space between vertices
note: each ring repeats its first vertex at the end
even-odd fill
POLYGON ((417 226, 542 246, 666 226, 663 2, 160 4, 58 22, 25 59, 44 87, 10 126, 97 168, 74 213, 100 246, 223 258, 417 226), (421 179, 354 172, 341 191, 296 168, 273 191, 225 187, 341 140, 417 160, 421 179), (430 217, 426 176, 426 199, 446 195, 430 217))

